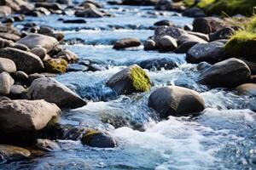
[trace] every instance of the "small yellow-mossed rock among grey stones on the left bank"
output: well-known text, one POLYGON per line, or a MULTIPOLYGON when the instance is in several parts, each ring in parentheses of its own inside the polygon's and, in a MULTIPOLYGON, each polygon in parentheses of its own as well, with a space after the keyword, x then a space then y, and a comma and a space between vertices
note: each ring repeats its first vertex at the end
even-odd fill
POLYGON ((64 73, 68 63, 65 59, 47 59, 44 61, 45 71, 50 73, 64 73))

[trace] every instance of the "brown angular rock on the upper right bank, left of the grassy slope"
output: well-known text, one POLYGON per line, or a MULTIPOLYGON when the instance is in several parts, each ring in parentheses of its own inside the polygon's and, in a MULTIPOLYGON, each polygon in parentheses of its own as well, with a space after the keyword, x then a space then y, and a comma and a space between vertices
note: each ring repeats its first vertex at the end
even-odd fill
POLYGON ((193 31, 210 34, 226 27, 223 20, 215 17, 196 18, 193 21, 193 31))

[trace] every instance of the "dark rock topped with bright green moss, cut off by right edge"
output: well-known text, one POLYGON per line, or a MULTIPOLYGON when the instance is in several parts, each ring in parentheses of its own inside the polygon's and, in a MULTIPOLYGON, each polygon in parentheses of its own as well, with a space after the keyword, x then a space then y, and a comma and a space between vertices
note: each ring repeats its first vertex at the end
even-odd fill
POLYGON ((256 33, 237 31, 225 45, 227 57, 246 58, 256 61, 256 33))

